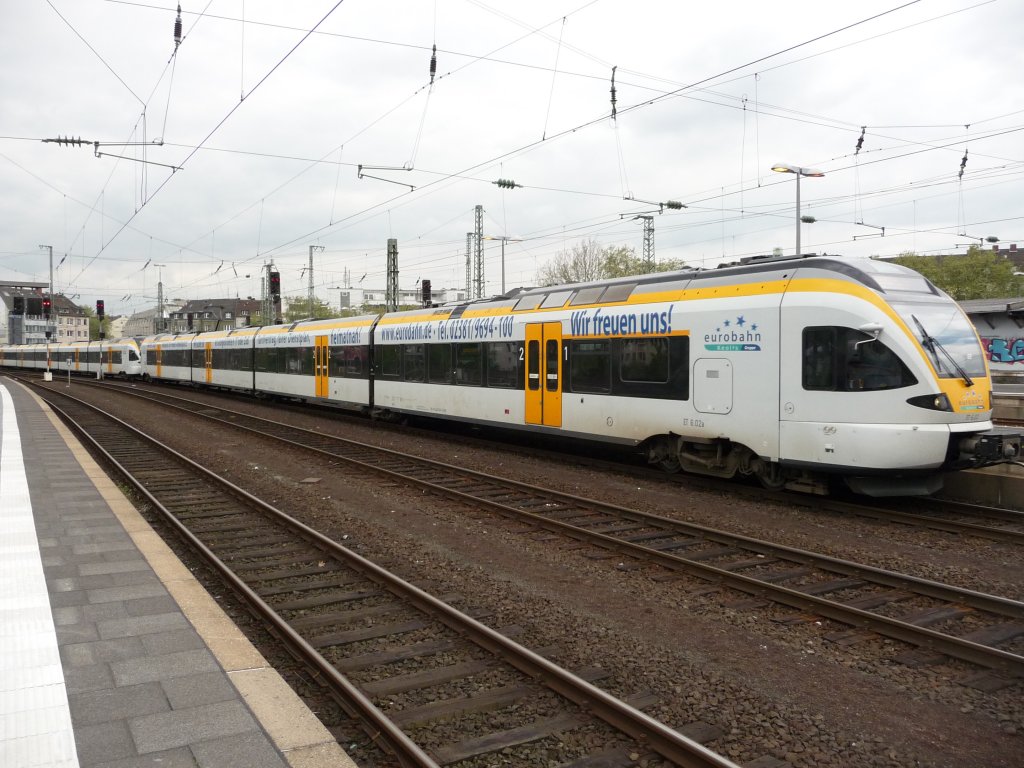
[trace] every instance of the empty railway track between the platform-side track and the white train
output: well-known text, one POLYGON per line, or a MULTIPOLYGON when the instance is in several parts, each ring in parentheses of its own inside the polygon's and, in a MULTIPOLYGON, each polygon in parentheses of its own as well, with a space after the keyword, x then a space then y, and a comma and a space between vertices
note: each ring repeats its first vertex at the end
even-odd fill
MULTIPOLYGON (((707 526, 643 513, 402 455, 365 443, 289 427, 208 402, 142 394, 158 403, 250 430, 332 461, 372 470, 403 483, 484 506, 633 562, 685 571, 720 587, 798 612, 785 622, 833 620, 848 629, 827 639, 849 644, 882 635, 915 646, 903 660, 935 654, 968 662, 985 673, 965 683, 1009 684, 1024 675, 1024 603, 844 561, 707 526), (872 634, 873 633, 873 634, 872 634), (1009 646, 1012 649, 1006 649, 1009 646)), ((595 554, 595 556, 600 556, 595 554)))

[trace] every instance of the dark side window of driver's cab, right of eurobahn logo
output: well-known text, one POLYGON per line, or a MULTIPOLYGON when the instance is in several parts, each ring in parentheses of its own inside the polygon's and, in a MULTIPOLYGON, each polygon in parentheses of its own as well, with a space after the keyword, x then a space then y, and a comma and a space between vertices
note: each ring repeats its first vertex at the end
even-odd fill
POLYGON ((834 392, 899 389, 918 383, 885 343, 853 328, 804 329, 804 389, 834 392))

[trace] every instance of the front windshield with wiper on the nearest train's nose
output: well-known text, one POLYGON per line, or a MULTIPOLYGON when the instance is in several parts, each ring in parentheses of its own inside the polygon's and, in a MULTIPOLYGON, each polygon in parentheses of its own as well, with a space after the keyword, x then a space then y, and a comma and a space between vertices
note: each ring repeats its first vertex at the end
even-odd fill
POLYGON ((978 335, 961 308, 946 303, 893 303, 928 351, 943 379, 985 375, 985 356, 978 335))

